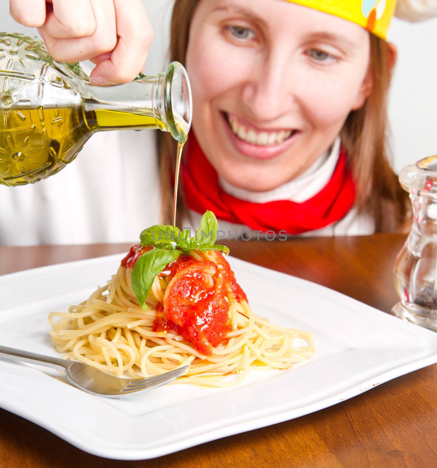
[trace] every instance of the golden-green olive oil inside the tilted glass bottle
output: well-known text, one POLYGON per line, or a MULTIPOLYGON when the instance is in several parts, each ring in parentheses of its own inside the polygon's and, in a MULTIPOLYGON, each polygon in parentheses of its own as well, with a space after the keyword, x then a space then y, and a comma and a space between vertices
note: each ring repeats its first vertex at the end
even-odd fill
POLYGON ((56 174, 96 131, 158 128, 153 116, 82 106, 0 109, 0 183, 23 185, 56 174))

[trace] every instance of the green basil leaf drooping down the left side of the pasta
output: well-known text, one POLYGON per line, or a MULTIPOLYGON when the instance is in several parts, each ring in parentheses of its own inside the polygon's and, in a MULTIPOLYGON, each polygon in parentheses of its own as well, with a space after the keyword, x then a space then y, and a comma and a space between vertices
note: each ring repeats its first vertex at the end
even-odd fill
POLYGON ((132 289, 143 310, 148 307, 145 304, 153 280, 163 271, 167 263, 178 258, 179 250, 152 249, 141 255, 132 270, 132 289))

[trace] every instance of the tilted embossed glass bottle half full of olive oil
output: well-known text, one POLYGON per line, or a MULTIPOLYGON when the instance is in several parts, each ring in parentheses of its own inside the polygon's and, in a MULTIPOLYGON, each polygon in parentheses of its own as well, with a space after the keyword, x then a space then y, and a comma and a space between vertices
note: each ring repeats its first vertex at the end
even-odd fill
POLYGON ((154 77, 98 87, 79 64, 53 60, 37 38, 0 33, 0 184, 56 174, 99 131, 159 128, 183 144, 191 117, 178 62, 154 77))

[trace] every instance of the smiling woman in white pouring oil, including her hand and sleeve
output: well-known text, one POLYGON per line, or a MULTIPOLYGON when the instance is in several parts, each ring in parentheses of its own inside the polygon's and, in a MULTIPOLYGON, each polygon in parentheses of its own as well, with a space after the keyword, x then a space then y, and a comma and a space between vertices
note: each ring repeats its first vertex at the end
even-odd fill
MULTIPOLYGON (((132 79, 152 37, 141 0, 112 0, 108 9, 107 0, 76 3, 69 15, 68 0, 10 0, 17 21, 39 25, 57 58, 93 59, 97 82, 132 79), (44 15, 30 15, 35 8, 44 15)), ((404 17, 436 13, 428 3, 398 0, 404 17)), ((206 210, 225 235, 246 240, 407 224, 407 194, 386 144, 396 49, 385 36, 394 7, 394 0, 174 1, 170 59, 186 66, 193 92, 179 227, 198 225, 206 210)), ((158 158, 150 157, 156 139, 142 132, 96 135, 84 149, 89 158, 54 181, 3 190, 0 242, 130 241, 145 223, 170 223, 176 147, 158 133, 158 158)))

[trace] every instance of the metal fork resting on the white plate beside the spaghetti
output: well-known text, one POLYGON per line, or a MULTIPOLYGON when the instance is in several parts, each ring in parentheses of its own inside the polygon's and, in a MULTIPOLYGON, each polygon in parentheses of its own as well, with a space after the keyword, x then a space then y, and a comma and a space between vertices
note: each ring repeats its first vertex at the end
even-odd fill
POLYGON ((190 368, 190 366, 184 366, 174 371, 156 375, 155 377, 129 380, 106 374, 83 362, 52 358, 51 356, 44 356, 44 354, 36 354, 1 345, 0 358, 30 362, 39 366, 52 367, 53 369, 64 371, 67 375, 67 380, 75 387, 93 395, 108 398, 120 398, 131 393, 146 392, 152 390, 152 388, 161 387, 161 385, 165 385, 171 382, 171 380, 184 375, 190 368))

